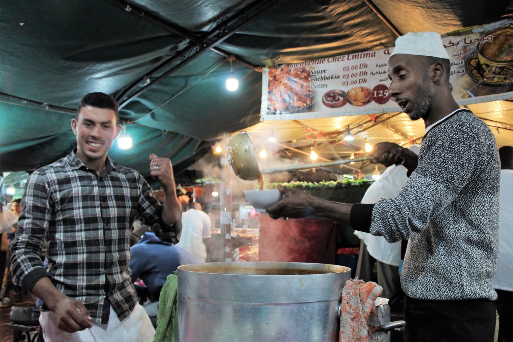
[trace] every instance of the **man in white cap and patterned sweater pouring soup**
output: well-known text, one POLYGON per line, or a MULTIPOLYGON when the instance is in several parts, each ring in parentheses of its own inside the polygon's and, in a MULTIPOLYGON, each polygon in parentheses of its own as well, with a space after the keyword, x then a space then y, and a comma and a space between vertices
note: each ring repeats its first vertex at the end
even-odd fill
POLYGON ((372 162, 408 169, 401 192, 351 205, 280 189, 284 199, 266 211, 272 218, 325 217, 389 243, 409 239, 401 273, 405 340, 492 342, 500 192, 495 137, 452 97, 440 34, 398 37, 388 76, 390 97, 426 126, 418 156, 397 144, 374 146, 372 162))

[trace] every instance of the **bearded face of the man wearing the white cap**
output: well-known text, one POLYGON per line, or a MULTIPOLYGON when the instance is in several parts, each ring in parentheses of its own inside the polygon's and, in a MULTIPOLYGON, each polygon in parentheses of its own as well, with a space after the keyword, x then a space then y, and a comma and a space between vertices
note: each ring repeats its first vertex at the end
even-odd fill
POLYGON ((429 72, 419 56, 395 54, 388 60, 388 93, 412 120, 426 119, 430 114, 435 90, 429 72))

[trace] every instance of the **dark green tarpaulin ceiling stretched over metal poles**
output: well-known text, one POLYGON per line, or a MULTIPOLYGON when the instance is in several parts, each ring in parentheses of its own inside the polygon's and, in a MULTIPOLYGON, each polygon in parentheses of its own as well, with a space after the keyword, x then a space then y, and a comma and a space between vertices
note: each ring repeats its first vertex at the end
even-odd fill
MULTIPOLYGON (((180 177, 214 140, 259 122, 258 67, 389 47, 408 31, 445 33, 512 13, 509 0, 4 1, 0 171, 30 172, 67 154, 78 100, 103 91, 120 100, 134 140, 111 156, 148 175, 155 152, 180 177), (232 55, 236 92, 224 85, 232 55)), ((272 125, 263 127, 280 130, 272 125)))

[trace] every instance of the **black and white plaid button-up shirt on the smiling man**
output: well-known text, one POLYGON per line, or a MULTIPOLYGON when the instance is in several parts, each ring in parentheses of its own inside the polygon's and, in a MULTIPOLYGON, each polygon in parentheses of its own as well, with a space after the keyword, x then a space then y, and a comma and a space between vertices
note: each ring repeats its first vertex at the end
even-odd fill
POLYGON ((134 218, 178 241, 181 224, 164 226, 161 212, 137 171, 107 157, 98 176, 73 151, 27 180, 11 247, 14 284, 31 290, 48 276, 58 291, 85 305, 93 323, 107 323, 109 303, 123 320, 137 302, 128 268, 134 218), (44 238, 48 270, 40 257, 44 238))

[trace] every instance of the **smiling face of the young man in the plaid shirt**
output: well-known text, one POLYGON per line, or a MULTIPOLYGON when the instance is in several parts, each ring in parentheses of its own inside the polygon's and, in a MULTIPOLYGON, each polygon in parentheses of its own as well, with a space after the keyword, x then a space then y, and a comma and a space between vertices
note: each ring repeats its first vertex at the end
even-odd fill
POLYGON ((76 156, 85 166, 100 173, 107 152, 121 131, 116 112, 107 108, 81 107, 77 118, 71 121, 71 128, 76 135, 76 156))

